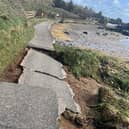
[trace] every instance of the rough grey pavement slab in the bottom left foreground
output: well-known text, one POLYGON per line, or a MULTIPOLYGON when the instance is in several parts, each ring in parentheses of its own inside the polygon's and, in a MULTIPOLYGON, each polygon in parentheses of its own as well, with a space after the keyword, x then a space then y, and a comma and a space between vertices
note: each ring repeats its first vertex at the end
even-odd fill
POLYGON ((57 129, 57 117, 52 90, 0 83, 0 129, 57 129))

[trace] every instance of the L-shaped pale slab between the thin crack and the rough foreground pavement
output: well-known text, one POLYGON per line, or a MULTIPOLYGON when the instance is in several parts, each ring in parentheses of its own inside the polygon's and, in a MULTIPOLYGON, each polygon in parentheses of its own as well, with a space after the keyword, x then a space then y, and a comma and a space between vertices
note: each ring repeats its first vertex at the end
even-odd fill
POLYGON ((19 79, 20 84, 26 84, 34 86, 38 84, 42 88, 50 88, 55 91, 58 99, 58 115, 62 114, 66 108, 80 112, 80 107, 75 103, 73 97, 74 93, 70 86, 62 80, 53 78, 51 76, 24 70, 22 76, 19 79))

